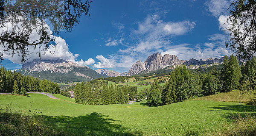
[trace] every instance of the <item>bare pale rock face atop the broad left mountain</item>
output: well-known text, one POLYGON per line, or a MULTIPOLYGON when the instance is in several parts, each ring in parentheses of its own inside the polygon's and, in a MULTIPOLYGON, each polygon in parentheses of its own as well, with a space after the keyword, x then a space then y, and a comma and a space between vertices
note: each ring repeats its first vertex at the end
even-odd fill
POLYGON ((83 67, 74 62, 67 62, 62 59, 46 61, 33 60, 32 62, 22 65, 22 69, 27 69, 29 71, 50 71, 51 73, 67 73, 73 70, 74 67, 90 69, 89 67, 83 67))

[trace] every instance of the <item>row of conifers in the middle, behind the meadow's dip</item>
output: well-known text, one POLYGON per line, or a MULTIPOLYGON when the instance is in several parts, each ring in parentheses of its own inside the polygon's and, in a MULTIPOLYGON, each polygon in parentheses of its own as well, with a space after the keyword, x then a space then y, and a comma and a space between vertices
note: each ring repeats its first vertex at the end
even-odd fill
POLYGON ((134 98, 130 95, 137 93, 137 87, 106 86, 103 84, 102 89, 99 89, 98 87, 93 88, 90 83, 82 82, 76 84, 74 92, 76 103, 90 105, 122 104, 128 103, 128 100, 134 98))

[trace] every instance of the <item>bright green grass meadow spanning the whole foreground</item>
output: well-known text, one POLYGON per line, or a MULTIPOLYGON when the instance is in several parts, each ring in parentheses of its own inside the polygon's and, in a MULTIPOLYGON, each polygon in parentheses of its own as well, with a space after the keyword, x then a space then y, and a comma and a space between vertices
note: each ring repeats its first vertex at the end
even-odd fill
POLYGON ((67 130, 75 135, 210 135, 232 125, 233 117, 237 114, 245 116, 256 110, 255 106, 212 101, 209 98, 151 107, 145 102, 80 105, 54 100, 43 94, 29 95, 0 95, 0 106, 4 109, 12 102, 12 109, 23 113, 27 113, 31 107, 43 114, 49 127, 67 130))

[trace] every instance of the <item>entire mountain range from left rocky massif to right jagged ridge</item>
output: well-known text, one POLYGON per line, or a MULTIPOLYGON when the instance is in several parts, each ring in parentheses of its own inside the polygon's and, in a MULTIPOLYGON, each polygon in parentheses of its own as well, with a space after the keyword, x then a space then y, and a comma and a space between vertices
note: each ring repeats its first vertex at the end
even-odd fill
POLYGON ((21 72, 23 75, 32 75, 39 79, 48 79, 55 82, 74 82, 74 81, 90 81, 96 78, 116 77, 116 76, 131 76, 138 74, 152 73, 154 71, 170 71, 179 65, 186 65, 188 69, 197 69, 201 67, 209 67, 223 63, 222 58, 206 58, 196 60, 194 58, 188 61, 183 61, 177 56, 165 54, 161 56, 160 53, 154 53, 142 62, 135 62, 129 72, 116 72, 110 69, 93 70, 90 67, 81 66, 71 61, 62 59, 57 60, 33 60, 22 65, 22 69, 16 72, 21 72))

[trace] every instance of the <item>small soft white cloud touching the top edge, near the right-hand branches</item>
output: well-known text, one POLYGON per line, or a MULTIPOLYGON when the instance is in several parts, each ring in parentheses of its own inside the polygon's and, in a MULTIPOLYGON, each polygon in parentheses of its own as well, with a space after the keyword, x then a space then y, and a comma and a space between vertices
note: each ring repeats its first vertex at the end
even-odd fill
POLYGON ((227 14, 230 3, 228 0, 209 0, 206 5, 208 7, 207 10, 211 12, 214 17, 219 17, 222 14, 227 14))

